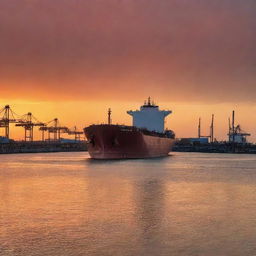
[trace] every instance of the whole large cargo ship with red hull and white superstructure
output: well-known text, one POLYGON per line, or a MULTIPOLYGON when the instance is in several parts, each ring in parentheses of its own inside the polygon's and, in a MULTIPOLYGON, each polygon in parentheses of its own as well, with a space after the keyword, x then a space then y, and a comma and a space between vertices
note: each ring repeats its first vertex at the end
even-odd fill
POLYGON ((136 159, 167 156, 175 142, 175 134, 164 129, 165 117, 172 113, 159 110, 148 98, 140 110, 127 111, 133 125, 90 125, 84 128, 88 152, 93 159, 136 159))

